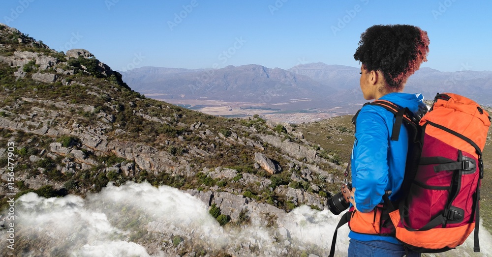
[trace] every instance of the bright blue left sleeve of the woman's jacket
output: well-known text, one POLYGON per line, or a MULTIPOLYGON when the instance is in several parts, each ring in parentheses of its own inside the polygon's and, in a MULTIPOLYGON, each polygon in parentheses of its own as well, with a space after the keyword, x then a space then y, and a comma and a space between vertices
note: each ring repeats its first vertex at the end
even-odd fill
POLYGON ((363 111, 356 121, 352 185, 357 209, 369 212, 381 202, 388 183, 388 129, 381 115, 363 111))

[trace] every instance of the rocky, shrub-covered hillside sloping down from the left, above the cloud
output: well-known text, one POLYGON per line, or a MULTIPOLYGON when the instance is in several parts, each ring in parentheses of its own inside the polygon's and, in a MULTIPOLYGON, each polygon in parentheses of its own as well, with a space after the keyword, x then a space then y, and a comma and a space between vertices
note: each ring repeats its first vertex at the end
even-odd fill
MULTIPOLYGON (((117 187, 132 181, 195 196, 211 213, 218 210, 214 217, 225 229, 247 224, 277 228, 277 219, 293 208, 326 209, 327 198, 337 193, 342 161, 311 145, 295 127, 259 116, 226 119, 190 111, 148 99, 121 78, 87 50, 58 53, 0 25, 0 177, 2 184, 11 183, 0 188, 1 210, 6 210, 7 194, 15 199, 25 195, 24 200, 32 198, 30 192, 84 199, 110 181, 117 187)), ((5 235, 7 214, 1 214, 5 235)), ((123 221, 110 219, 110 224, 118 231, 137 228, 125 242, 136 242, 149 254, 299 256, 325 251, 296 244, 287 228, 273 233, 276 243, 268 249, 261 247, 261 238, 244 246, 207 248, 184 240, 193 238, 192 231, 145 223, 138 212, 133 214, 123 221), (187 243, 160 243, 177 235, 187 243)), ((15 255, 65 256, 78 246, 36 234, 27 223, 16 226, 23 233, 18 233, 15 255)), ((2 249, 5 243, 0 242, 2 249)))

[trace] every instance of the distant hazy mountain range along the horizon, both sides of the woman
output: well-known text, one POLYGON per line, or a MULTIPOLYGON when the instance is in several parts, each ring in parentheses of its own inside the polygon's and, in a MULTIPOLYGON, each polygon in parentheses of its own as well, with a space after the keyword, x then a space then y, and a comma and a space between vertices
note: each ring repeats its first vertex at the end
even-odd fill
MULTIPOLYGON (((280 110, 331 109, 354 112, 366 102, 359 89, 360 68, 300 64, 288 70, 257 64, 221 69, 141 67, 122 72, 134 90, 159 99, 202 99, 244 102, 280 110)), ((441 72, 421 68, 404 89, 433 99, 454 92, 492 106, 492 71, 441 72)))

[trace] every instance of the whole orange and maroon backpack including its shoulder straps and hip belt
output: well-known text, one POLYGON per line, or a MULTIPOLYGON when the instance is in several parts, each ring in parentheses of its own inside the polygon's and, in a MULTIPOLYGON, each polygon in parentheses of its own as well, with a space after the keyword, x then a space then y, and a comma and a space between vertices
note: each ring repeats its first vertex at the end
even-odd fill
POLYGON ((385 203, 369 213, 353 208, 346 212, 335 230, 330 257, 334 256, 337 230, 345 223, 359 233, 395 236, 420 253, 454 249, 475 229, 474 251, 480 252, 480 181, 489 114, 474 101, 452 93, 438 93, 431 110, 420 120, 407 108, 388 101, 368 104, 395 115, 391 140, 399 140, 401 124, 408 129, 400 189, 406 194, 398 202, 384 195, 385 203))

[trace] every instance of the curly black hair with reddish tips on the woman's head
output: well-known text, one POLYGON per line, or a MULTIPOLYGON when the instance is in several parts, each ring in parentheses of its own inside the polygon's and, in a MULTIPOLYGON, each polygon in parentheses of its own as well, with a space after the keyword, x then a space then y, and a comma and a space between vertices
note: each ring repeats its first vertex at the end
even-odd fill
POLYGON ((411 25, 374 25, 361 35, 354 58, 368 71, 381 71, 392 91, 406 80, 429 53, 427 31, 411 25))

